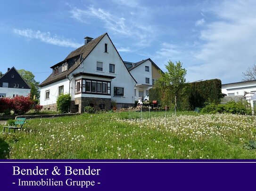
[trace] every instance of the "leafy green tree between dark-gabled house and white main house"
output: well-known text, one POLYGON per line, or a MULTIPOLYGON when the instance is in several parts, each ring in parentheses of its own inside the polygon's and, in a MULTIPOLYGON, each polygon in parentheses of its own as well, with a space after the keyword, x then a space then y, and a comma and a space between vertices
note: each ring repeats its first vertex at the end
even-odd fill
POLYGON ((27 71, 25 69, 19 69, 19 74, 24 78, 27 84, 31 87, 30 91, 30 99, 33 99, 33 96, 35 95, 36 99, 39 99, 40 97, 40 90, 39 90, 39 82, 35 81, 34 75, 32 72, 27 71))

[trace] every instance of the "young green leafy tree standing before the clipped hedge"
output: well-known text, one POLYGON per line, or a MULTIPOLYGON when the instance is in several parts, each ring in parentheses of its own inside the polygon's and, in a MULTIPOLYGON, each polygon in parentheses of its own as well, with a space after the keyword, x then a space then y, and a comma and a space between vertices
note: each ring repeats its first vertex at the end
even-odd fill
POLYGON ((167 98, 173 95, 175 108, 177 108, 177 100, 185 89, 185 75, 187 70, 182 68, 182 63, 176 61, 174 64, 172 61, 168 61, 168 65, 165 65, 167 72, 161 73, 161 77, 157 80, 158 86, 162 89, 162 92, 167 98))

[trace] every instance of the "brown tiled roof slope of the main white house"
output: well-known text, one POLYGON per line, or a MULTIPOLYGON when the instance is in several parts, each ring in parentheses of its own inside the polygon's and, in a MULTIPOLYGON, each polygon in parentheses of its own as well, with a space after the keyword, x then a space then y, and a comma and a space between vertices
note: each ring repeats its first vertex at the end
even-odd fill
POLYGON ((66 75, 69 75, 71 72, 73 72, 79 65, 80 61, 82 62, 94 49, 95 46, 98 45, 99 41, 106 35, 107 33, 104 33, 103 35, 100 35, 98 38, 93 39, 91 42, 87 43, 86 45, 83 45, 76 50, 72 51, 68 54, 68 56, 65 58, 64 61, 59 62, 58 64, 52 66, 51 68, 54 68, 55 66, 58 66, 59 64, 67 62, 72 62, 68 64, 68 66, 71 66, 67 71, 62 72, 57 75, 53 75, 51 73, 46 80, 44 80, 40 86, 44 86, 47 84, 51 84, 53 82, 57 82, 58 80, 66 78, 66 75), (82 54, 82 58, 80 59, 80 56, 82 54))

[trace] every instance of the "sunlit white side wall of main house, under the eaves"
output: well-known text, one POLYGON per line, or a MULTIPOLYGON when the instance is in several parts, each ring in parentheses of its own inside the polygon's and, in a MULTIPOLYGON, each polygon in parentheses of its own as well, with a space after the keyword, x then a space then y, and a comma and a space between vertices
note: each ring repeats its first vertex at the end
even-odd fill
MULTIPOLYGON (((58 97, 58 87, 64 85, 64 94, 69 93, 69 80, 63 79, 58 82, 54 82, 52 84, 45 85, 41 87, 40 91, 40 105, 47 106, 57 103, 57 97, 58 97), (50 90, 50 98, 45 99, 45 92, 50 90)), ((74 99, 73 99, 74 100, 74 99)), ((50 107, 47 107, 50 108, 50 107)), ((52 109, 50 109, 52 110, 52 109)), ((55 109, 54 109, 55 110, 55 109)))

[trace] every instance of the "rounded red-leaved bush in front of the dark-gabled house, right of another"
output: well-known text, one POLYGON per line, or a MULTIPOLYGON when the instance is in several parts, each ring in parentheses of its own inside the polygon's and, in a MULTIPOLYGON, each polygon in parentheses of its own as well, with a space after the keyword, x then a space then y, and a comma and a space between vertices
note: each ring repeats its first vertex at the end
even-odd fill
POLYGON ((16 96, 12 98, 13 100, 13 111, 15 114, 25 114, 33 106, 33 100, 30 97, 16 96))

